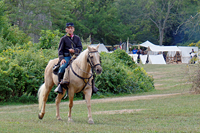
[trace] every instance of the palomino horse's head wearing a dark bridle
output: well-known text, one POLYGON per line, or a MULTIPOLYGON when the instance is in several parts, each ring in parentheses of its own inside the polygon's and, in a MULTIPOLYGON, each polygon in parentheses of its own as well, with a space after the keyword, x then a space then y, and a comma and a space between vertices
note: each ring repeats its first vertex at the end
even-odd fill
POLYGON ((97 74, 100 74, 102 72, 101 67, 101 59, 100 54, 98 52, 99 45, 96 47, 90 47, 88 46, 88 63, 90 64, 91 68, 96 71, 97 74))

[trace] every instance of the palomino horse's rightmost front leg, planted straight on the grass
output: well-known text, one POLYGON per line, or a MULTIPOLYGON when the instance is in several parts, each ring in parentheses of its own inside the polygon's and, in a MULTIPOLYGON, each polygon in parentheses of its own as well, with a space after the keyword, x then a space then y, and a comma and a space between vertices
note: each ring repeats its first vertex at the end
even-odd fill
POLYGON ((86 100, 86 104, 87 104, 87 108, 88 108, 88 123, 89 124, 94 124, 94 121, 92 119, 92 112, 91 112, 91 95, 92 95, 92 88, 90 89, 86 89, 84 91, 85 94, 85 100, 86 100))

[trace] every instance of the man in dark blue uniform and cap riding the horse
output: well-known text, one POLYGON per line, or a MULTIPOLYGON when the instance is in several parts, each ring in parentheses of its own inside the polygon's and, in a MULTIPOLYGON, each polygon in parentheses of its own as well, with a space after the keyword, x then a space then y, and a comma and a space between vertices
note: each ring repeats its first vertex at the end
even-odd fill
MULTIPOLYGON (((69 85, 69 69, 66 69, 68 63, 72 57, 76 57, 82 51, 82 43, 79 36, 74 35, 74 24, 67 23, 66 24, 66 35, 60 39, 59 48, 58 48, 58 56, 60 68, 58 71, 58 87, 54 90, 57 93, 63 93, 63 89, 69 85), (65 73, 65 75, 64 75, 65 73), (64 78, 63 78, 64 75, 64 78)), ((93 87, 93 93, 98 91, 98 88, 93 87)))

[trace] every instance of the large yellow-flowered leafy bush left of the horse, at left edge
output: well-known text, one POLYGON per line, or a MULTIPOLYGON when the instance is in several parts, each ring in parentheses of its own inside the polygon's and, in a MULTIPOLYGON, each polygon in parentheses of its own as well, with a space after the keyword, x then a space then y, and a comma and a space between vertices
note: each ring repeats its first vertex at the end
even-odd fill
POLYGON ((25 93, 36 97, 44 81, 44 69, 57 52, 37 50, 33 45, 13 46, 0 54, 0 79, 3 82, 0 86, 0 101, 21 97, 25 93))

